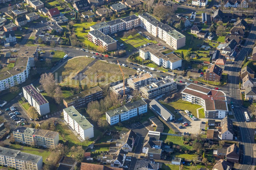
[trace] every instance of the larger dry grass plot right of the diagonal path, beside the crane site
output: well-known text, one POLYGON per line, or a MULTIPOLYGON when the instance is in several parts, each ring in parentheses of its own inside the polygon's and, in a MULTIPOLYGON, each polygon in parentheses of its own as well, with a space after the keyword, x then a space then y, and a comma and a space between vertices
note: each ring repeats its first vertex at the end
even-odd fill
MULTIPOLYGON (((136 73, 136 70, 127 67, 122 67, 122 70, 125 74, 125 78, 136 73)), ((104 86, 107 83, 123 79, 118 65, 108 64, 100 60, 86 70, 84 74, 87 77, 81 81, 81 84, 86 83, 89 87, 97 86, 98 83, 104 86)))

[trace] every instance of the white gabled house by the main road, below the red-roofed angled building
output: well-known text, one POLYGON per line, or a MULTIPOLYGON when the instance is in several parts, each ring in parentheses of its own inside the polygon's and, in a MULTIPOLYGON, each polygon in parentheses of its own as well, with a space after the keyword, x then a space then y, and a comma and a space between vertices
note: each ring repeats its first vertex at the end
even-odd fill
POLYGON ((233 140, 233 134, 233 121, 226 116, 221 120, 221 127, 219 127, 219 138, 221 140, 233 140))

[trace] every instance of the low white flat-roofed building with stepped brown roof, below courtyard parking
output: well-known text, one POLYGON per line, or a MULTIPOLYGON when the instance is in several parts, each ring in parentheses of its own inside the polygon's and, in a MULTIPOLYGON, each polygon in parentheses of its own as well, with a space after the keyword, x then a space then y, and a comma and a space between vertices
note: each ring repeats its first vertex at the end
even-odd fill
POLYGON ((159 49, 159 46, 157 44, 141 47, 140 49, 140 57, 143 59, 150 59, 158 66, 163 66, 165 68, 169 69, 176 69, 178 67, 181 67, 182 59, 179 58, 174 53, 170 54, 163 54, 161 51, 163 50, 163 47, 159 49))

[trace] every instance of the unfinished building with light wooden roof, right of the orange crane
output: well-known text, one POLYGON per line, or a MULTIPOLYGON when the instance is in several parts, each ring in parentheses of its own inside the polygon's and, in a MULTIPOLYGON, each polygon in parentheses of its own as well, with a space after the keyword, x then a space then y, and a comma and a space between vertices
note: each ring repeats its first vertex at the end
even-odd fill
POLYGON ((155 81, 156 79, 153 78, 151 74, 146 73, 146 74, 128 79, 127 84, 135 90, 135 89, 139 89, 140 87, 151 84, 152 82, 155 82, 155 81))

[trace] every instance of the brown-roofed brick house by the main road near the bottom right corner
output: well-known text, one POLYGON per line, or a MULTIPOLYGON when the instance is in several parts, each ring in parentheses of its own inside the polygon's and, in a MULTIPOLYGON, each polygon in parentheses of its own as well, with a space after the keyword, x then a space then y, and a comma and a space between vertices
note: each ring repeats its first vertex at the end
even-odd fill
POLYGON ((240 157, 240 149, 236 144, 232 144, 227 149, 226 160, 231 163, 238 163, 240 157))

